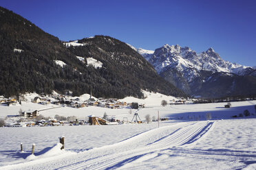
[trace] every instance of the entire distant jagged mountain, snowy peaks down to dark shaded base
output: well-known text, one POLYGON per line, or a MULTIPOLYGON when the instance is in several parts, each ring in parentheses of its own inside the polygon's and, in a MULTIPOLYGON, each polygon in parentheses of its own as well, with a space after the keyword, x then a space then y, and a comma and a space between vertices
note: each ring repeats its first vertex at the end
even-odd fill
POLYGON ((137 51, 146 56, 161 77, 189 95, 207 98, 256 95, 255 69, 224 61, 213 48, 196 53, 189 47, 164 45, 153 53, 137 51))

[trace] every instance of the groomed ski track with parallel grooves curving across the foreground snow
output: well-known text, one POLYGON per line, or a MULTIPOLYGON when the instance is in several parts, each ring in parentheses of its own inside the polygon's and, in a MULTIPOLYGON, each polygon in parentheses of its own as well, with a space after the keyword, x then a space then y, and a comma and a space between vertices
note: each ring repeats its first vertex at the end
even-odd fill
POLYGON ((123 165, 158 156, 171 147, 191 145, 213 126, 213 121, 186 122, 160 127, 138 134, 114 145, 90 149, 78 154, 37 159, 5 169, 116 169, 123 165))

